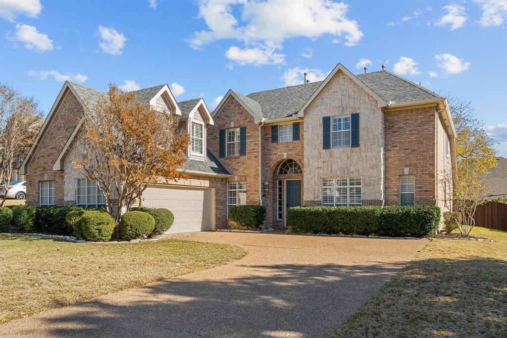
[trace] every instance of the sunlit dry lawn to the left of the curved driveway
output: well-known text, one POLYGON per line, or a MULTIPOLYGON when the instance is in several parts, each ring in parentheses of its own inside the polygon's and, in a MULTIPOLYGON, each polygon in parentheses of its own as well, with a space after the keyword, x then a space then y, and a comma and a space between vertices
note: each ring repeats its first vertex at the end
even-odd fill
POLYGON ((66 243, 0 235, 0 324, 243 257, 237 246, 176 239, 66 243))

